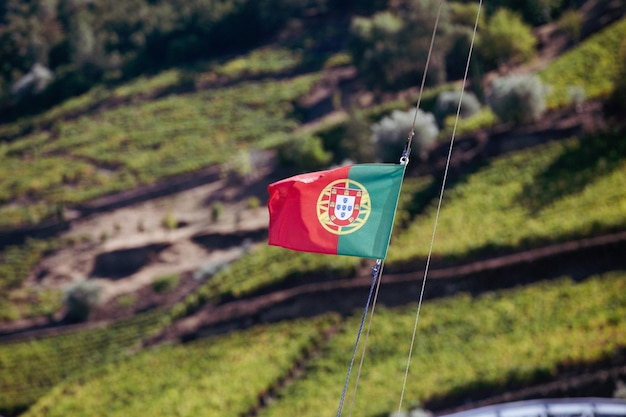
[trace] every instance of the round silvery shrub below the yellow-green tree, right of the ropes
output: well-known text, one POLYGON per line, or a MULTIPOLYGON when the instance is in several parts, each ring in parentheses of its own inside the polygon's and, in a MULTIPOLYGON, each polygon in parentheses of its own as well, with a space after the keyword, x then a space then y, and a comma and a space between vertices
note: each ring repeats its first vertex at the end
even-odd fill
POLYGON ((541 117, 546 109, 546 93, 536 75, 509 75, 494 80, 487 102, 500 121, 517 125, 541 117))

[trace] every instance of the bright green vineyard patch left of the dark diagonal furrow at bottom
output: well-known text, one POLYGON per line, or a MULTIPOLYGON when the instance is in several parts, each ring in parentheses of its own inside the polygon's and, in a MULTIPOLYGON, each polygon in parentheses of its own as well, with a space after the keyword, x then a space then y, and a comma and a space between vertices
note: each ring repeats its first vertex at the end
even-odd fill
POLYGON ((146 350, 60 384, 24 415, 244 415, 336 322, 288 321, 146 350))

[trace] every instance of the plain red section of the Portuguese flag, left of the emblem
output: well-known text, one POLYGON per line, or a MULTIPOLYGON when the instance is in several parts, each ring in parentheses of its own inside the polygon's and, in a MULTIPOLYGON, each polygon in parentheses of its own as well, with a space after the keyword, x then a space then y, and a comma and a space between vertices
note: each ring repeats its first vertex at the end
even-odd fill
POLYGON ((269 244, 284 248, 336 254, 339 236, 322 227, 317 200, 332 181, 348 178, 350 167, 297 175, 270 184, 269 244))

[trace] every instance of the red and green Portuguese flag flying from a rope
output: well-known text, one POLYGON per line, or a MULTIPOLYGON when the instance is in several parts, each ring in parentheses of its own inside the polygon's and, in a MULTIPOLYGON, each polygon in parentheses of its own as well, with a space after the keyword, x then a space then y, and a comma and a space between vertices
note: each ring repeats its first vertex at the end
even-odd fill
POLYGON ((269 244, 384 259, 404 169, 397 164, 351 165, 270 184, 269 244))

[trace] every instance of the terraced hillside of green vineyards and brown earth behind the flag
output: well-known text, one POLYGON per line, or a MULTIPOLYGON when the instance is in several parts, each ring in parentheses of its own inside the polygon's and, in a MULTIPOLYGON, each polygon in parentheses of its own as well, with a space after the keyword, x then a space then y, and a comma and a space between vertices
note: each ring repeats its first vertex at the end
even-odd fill
MULTIPOLYGON (((593 51, 613 79, 604 57, 624 33, 617 21, 541 70, 555 93, 542 120, 463 122, 403 410, 611 396, 626 380, 624 130, 603 118, 612 82, 563 75, 593 51), (590 84, 578 109, 558 98, 590 84)), ((324 71, 304 59, 266 47, 0 125, 0 414, 336 411, 372 262, 265 243, 266 186, 296 172, 283 145, 330 149, 350 123, 303 124, 316 92, 356 83, 338 80, 354 77, 341 55, 324 71), (77 282, 101 299, 70 324, 77 282)), ((398 408, 448 146, 405 179, 355 414, 398 408)))

